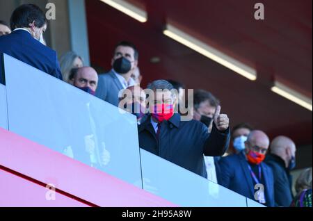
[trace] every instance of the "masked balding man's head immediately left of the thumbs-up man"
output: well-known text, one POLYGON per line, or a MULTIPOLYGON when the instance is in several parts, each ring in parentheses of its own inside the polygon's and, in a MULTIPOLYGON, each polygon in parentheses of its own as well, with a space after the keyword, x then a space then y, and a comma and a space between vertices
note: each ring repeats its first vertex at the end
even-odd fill
POLYGON ((145 91, 138 85, 128 87, 119 96, 119 108, 135 115, 138 125, 145 119, 145 96, 145 91))

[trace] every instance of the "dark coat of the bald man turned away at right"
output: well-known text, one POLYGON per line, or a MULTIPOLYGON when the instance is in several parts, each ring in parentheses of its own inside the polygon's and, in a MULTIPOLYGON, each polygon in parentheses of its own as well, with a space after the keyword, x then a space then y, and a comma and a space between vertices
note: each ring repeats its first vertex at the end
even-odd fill
POLYGON ((284 161, 279 156, 268 154, 265 163, 272 168, 274 174, 275 206, 289 207, 293 199, 291 175, 287 171, 284 161))

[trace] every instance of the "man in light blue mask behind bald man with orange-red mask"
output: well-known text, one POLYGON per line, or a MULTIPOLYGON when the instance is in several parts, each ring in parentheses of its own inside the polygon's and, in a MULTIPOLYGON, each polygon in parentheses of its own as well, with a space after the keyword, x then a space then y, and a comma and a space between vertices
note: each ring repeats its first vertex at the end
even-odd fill
POLYGON ((245 149, 245 142, 249 133, 253 130, 252 126, 248 123, 237 124, 232 129, 232 150, 229 154, 239 154, 245 149))

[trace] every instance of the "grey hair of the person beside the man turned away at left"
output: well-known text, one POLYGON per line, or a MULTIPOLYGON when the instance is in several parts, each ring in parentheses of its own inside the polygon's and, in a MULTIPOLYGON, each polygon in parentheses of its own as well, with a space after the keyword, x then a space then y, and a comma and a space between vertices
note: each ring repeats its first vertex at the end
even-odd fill
POLYGON ((61 66, 61 73, 63 76, 63 81, 69 82, 70 81, 70 72, 73 67, 74 60, 76 58, 81 59, 83 62, 83 58, 76 54, 74 51, 68 51, 66 54, 64 54, 60 59, 60 66, 61 66))

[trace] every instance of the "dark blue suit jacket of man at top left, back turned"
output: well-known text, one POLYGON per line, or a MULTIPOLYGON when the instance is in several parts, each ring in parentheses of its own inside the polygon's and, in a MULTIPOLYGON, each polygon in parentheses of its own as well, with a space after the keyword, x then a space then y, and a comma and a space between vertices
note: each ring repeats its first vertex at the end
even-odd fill
POLYGON ((35 40, 24 30, 0 37, 0 53, 8 54, 37 69, 62 80, 56 51, 35 40))

